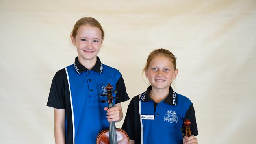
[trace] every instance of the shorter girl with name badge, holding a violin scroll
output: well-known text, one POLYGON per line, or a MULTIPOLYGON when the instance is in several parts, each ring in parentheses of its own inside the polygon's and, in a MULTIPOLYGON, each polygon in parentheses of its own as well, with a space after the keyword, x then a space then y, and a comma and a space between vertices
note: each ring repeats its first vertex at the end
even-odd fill
POLYGON ((130 143, 197 144, 193 104, 171 88, 172 80, 178 74, 175 56, 169 50, 154 50, 148 56, 143 72, 151 85, 146 92, 132 98, 122 125, 130 143), (180 128, 185 119, 195 127, 193 135, 182 138, 180 128))

